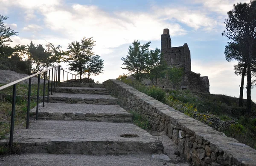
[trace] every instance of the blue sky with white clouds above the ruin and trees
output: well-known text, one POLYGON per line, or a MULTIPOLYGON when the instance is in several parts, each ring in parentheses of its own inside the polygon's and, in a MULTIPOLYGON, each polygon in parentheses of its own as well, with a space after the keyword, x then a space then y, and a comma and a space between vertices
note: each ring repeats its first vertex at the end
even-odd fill
POLYGON ((188 44, 192 71, 209 77, 210 93, 239 97, 241 76, 234 74, 237 62, 225 60, 229 40, 221 32, 227 11, 240 2, 250 0, 0 0, 0 13, 19 32, 11 37, 11 46, 50 42, 65 51, 72 41, 93 37, 93 52, 104 60, 104 73, 91 78, 100 83, 129 73, 121 69, 121 57, 134 40, 151 41, 150 49, 160 49, 161 34, 168 28, 172 47, 188 44))

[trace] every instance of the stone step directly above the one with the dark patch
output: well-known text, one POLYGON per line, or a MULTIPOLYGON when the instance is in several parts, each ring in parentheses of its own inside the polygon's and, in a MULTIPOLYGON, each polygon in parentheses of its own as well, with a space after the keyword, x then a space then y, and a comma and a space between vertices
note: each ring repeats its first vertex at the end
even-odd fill
MULTIPOLYGON (((36 107, 30 110, 35 118, 36 107)), ((104 122, 132 122, 132 114, 118 105, 42 103, 38 109, 39 119, 51 120, 93 120, 104 122)))

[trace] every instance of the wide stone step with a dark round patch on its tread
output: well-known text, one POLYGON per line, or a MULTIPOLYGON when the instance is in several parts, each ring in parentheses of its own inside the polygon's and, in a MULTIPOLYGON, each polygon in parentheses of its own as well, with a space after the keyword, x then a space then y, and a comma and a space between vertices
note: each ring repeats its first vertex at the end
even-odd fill
MULTIPOLYGON (((81 120, 35 120, 29 129, 15 129, 14 149, 25 153, 127 155, 163 152, 163 144, 132 123, 81 120), (121 135, 139 137, 121 137, 121 135)), ((0 140, 8 146, 9 139, 0 140)))

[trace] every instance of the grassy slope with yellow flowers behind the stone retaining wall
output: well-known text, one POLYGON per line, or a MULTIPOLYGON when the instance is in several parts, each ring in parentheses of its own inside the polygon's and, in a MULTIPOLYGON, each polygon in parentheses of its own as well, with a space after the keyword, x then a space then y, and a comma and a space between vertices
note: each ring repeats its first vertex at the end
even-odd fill
MULTIPOLYGON (((244 107, 239 107, 239 99, 236 97, 222 94, 190 92, 189 90, 164 91, 154 86, 141 85, 129 79, 122 81, 190 117, 194 117, 194 114, 197 114, 199 117, 198 120, 203 123, 206 123, 210 117, 218 117, 223 121, 234 120, 236 122, 235 124, 220 132, 224 132, 228 137, 233 137, 240 143, 256 149, 255 103, 252 103, 252 112, 248 114, 246 113, 246 100, 243 100, 244 107)), ((146 120, 144 119, 143 121, 146 120)), ((140 123, 140 120, 137 120, 136 123, 140 123)), ((207 125, 211 126, 211 124, 207 125)))

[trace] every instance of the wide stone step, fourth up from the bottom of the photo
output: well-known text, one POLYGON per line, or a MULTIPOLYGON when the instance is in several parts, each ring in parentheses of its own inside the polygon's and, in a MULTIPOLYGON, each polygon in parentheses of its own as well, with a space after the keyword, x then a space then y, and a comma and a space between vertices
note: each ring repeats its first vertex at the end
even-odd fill
POLYGON ((54 93, 50 95, 49 102, 115 105, 117 103, 117 99, 111 95, 104 94, 54 93))

